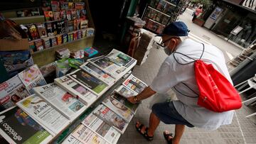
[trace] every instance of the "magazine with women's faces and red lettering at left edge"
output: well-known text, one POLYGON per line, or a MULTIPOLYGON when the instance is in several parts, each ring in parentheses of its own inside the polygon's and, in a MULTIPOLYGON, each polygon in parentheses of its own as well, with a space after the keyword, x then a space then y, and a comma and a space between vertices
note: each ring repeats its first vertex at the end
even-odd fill
POLYGON ((15 106, 16 102, 29 96, 28 91, 18 76, 0 84, 0 111, 15 106))

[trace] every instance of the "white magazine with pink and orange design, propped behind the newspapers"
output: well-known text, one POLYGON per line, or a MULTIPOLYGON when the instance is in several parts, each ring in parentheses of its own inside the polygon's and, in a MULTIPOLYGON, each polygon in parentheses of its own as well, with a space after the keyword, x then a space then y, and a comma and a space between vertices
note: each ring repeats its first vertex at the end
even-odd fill
POLYGON ((18 74, 18 77, 25 85, 29 94, 34 94, 33 87, 47 84, 37 65, 32 65, 28 69, 23 70, 23 72, 18 74))

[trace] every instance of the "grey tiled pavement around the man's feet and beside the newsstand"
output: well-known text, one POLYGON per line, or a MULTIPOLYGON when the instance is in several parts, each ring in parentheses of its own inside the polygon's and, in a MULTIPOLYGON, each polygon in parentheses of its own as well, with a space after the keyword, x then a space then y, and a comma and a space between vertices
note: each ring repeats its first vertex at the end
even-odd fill
MULTIPOLYGON (((141 66, 134 68, 133 74, 142 79, 146 84, 151 84, 156 76, 161 62, 166 58, 164 50, 152 48, 149 58, 141 66)), ((151 98, 149 98, 151 99, 151 98)), ((135 123, 141 121, 142 123, 149 124, 149 114, 151 111, 147 108, 149 99, 143 101, 139 106, 136 116, 129 124, 127 131, 119 139, 120 144, 143 144, 143 143, 166 143, 163 136, 164 130, 174 132, 174 126, 160 123, 159 127, 154 133, 154 140, 151 142, 146 141, 135 129, 135 123)), ((245 118, 250 113, 247 107, 243 106, 242 109, 235 112, 233 123, 228 126, 222 126, 215 131, 204 131, 200 128, 186 128, 183 134, 181 144, 233 144, 233 143, 256 143, 256 117, 245 118)))

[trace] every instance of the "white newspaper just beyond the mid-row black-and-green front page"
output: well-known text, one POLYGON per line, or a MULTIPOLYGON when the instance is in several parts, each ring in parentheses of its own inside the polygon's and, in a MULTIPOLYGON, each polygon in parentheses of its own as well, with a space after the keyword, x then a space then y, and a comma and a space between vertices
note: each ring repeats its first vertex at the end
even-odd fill
POLYGON ((102 82, 105 82, 106 84, 112 86, 116 80, 111 77, 106 72, 103 72, 99 68, 97 68, 95 65, 92 65, 90 62, 85 62, 80 66, 80 68, 93 76, 97 77, 98 79, 102 80, 102 82))

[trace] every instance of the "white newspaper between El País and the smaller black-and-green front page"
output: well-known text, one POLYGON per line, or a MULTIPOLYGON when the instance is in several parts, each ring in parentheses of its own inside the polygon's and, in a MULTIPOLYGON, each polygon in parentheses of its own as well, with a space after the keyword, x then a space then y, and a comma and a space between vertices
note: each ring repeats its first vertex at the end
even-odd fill
POLYGON ((63 89, 70 92, 70 94, 72 94, 73 96, 76 96, 76 98, 82 101, 82 103, 85 104, 87 107, 90 106, 90 104, 92 104, 97 99, 97 96, 95 94, 92 94, 92 92, 83 87, 81 84, 78 84, 78 82, 70 79, 70 77, 63 76, 54 79, 54 82, 63 89))

